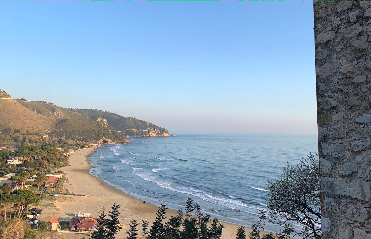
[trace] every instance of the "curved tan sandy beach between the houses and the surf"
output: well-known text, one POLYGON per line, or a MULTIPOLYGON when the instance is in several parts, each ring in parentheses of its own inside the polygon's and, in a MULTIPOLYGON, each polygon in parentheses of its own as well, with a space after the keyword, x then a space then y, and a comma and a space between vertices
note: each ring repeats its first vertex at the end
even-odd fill
MULTIPOLYGON (((70 192, 78 195, 89 196, 57 196, 48 197, 43 200, 41 207, 43 208, 40 220, 48 221, 49 217, 57 217, 59 219, 69 219, 76 212, 91 213, 92 217, 97 216, 102 209, 108 212, 110 206, 114 203, 121 206, 119 217, 121 223, 125 226, 120 230, 116 238, 123 239, 127 236, 125 233, 129 225, 129 221, 134 218, 139 223, 142 220, 153 222, 155 220, 155 212, 158 206, 150 203, 143 203, 134 197, 131 197, 115 187, 106 184, 102 179, 94 177, 89 173, 91 164, 89 163, 88 155, 94 152, 94 148, 86 148, 78 150, 71 154, 69 158, 70 165, 60 168, 67 173, 68 183, 65 188, 70 192)), ((176 215, 176 210, 168 209, 167 218, 176 215)), ((238 225, 222 222, 225 226, 223 229, 224 238, 236 238, 238 225)), ((246 232, 250 229, 246 228, 246 232)), ((139 230, 139 234, 140 234, 139 230)), ((65 234, 63 238, 77 238, 76 234, 65 234)), ((86 235, 85 235, 86 237, 86 235)), ((222 237, 222 238, 223 238, 222 237)))

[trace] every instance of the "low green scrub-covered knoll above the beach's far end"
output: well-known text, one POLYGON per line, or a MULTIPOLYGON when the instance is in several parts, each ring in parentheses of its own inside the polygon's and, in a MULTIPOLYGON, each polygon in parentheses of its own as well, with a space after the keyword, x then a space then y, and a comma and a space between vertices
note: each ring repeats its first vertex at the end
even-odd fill
POLYGON ((68 140, 99 141, 101 139, 126 142, 127 138, 114 128, 91 119, 60 119, 57 123, 59 137, 68 140))

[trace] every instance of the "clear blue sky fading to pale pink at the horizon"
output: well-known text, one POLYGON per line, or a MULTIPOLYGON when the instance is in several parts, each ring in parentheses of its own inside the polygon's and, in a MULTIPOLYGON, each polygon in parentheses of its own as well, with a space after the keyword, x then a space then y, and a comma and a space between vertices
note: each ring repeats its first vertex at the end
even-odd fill
POLYGON ((0 89, 177 131, 316 134, 312 1, 3 1, 0 89))

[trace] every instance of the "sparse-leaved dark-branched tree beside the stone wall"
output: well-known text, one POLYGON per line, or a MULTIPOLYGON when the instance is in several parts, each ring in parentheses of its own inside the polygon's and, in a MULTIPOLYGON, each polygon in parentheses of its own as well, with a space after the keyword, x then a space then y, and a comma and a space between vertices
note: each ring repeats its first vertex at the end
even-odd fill
POLYGON ((300 223, 303 238, 321 235, 319 166, 317 155, 309 153, 299 164, 283 167, 276 181, 269 181, 267 207, 272 222, 284 226, 300 223))

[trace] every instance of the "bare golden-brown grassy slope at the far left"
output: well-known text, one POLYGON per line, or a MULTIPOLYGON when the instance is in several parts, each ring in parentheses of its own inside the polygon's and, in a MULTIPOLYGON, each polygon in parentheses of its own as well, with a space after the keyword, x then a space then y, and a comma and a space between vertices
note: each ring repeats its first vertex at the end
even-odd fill
POLYGON ((30 132, 53 130, 55 119, 35 114, 15 99, 0 99, 0 126, 27 129, 30 132))

